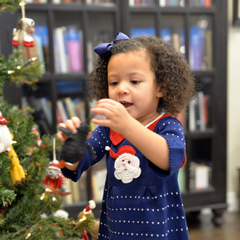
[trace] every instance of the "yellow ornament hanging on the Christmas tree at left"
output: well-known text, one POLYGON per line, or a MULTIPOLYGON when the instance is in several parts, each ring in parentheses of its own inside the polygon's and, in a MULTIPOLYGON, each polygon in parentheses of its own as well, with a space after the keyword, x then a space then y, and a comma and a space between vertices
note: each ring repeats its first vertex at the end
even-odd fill
MULTIPOLYGON (((11 134, 12 139, 13 135, 11 134)), ((19 184, 25 180, 25 173, 23 167, 20 164, 18 155, 16 154, 12 145, 10 145, 10 151, 7 152, 7 155, 11 158, 12 163, 10 167, 10 175, 14 184, 19 184)))

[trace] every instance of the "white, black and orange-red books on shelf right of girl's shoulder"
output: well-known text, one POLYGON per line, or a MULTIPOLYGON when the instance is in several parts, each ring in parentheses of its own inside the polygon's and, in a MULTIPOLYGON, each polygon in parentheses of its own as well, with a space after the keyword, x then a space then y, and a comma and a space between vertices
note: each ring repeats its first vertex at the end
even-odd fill
POLYGON ((199 91, 189 105, 189 131, 205 131, 211 127, 211 98, 199 91))

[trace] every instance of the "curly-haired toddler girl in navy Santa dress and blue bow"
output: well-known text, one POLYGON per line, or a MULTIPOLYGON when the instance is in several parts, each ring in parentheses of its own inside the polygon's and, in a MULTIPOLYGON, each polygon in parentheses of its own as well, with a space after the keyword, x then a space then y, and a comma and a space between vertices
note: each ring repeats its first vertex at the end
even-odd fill
MULTIPOLYGON (((189 66, 174 47, 157 37, 128 39, 95 48, 99 58, 90 76, 92 119, 99 125, 88 139, 96 159, 66 165, 77 181, 106 155, 107 178, 99 240, 187 240, 188 228, 177 182, 185 163, 184 130, 176 116, 195 94, 189 66)), ((62 126, 76 132, 73 117, 62 126)), ((59 132, 61 141, 67 136, 59 132)))

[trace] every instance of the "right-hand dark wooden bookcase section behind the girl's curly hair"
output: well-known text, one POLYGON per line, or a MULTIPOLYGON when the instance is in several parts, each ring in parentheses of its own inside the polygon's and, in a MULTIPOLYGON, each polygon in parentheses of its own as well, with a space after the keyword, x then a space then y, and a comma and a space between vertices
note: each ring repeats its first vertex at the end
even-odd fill
MULTIPOLYGON (((122 31, 156 35, 181 53, 199 85, 182 113, 187 164, 179 184, 187 213, 211 208, 213 223, 226 209, 226 1, 123 1, 122 31)), ((197 215, 197 214, 196 214, 197 215)))

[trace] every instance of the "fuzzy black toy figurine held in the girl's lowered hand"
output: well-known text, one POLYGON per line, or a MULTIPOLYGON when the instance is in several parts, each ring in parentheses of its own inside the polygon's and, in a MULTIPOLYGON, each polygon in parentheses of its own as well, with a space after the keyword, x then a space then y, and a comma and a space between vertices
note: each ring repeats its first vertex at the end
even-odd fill
POLYGON ((81 161, 84 158, 86 148, 89 149, 92 158, 95 158, 95 154, 92 151, 91 146, 86 143, 86 140, 91 137, 90 127, 87 123, 82 122, 80 127, 77 128, 77 133, 73 134, 69 129, 59 127, 59 130, 64 132, 68 138, 64 142, 61 151, 61 161, 59 167, 64 168, 65 162, 73 164, 81 161))

